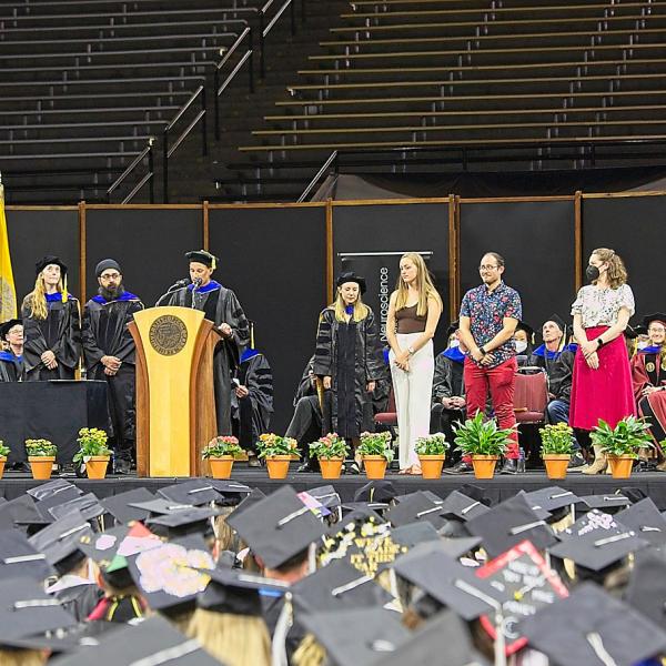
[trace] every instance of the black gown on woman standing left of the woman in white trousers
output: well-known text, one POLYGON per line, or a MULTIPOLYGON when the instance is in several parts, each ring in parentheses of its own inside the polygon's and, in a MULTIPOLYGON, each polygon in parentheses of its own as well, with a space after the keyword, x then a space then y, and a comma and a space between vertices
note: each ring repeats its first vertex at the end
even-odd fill
POLYGON ((349 323, 335 319, 335 310, 326 307, 320 315, 314 352, 314 374, 331 376, 331 427, 342 437, 355 438, 372 431, 372 395, 369 382, 381 380, 384 360, 375 325, 369 309, 367 316, 349 323))

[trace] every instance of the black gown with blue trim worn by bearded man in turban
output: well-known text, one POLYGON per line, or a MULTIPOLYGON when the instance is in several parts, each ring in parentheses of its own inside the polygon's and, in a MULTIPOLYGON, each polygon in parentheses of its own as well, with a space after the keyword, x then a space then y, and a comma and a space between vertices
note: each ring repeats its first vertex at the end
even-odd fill
POLYGON ((114 448, 119 453, 131 452, 135 440, 135 347, 128 324, 141 310, 143 303, 130 292, 123 292, 115 301, 95 296, 85 303, 83 310, 81 336, 88 379, 104 381, 109 385, 109 414, 113 431, 109 434, 114 438, 114 448), (104 374, 102 356, 117 356, 122 362, 114 375, 104 374))

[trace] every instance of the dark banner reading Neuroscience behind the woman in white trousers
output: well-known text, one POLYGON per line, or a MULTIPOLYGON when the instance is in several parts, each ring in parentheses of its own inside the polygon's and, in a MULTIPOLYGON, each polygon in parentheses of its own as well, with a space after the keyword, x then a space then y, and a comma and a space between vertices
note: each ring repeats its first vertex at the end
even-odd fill
POLYGON ((372 307, 381 324, 381 339, 386 342, 386 317, 389 315, 389 299, 395 290, 400 278, 400 258, 405 252, 416 252, 428 265, 433 253, 431 251, 404 250, 401 252, 341 252, 341 272, 353 271, 365 278, 367 292, 363 301, 372 307))

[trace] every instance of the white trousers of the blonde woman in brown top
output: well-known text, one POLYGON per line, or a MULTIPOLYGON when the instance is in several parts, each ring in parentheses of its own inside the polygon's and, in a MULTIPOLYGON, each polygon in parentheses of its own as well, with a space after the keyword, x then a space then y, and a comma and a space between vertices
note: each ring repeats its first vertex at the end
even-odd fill
MULTIPOLYGON (((397 333, 401 350, 408 349, 422 333, 397 333)), ((390 352, 391 376, 397 410, 397 431, 400 442, 400 467, 418 465, 416 440, 430 432, 431 396, 435 359, 433 341, 430 340, 410 359, 410 371, 395 365, 395 354, 390 352)))

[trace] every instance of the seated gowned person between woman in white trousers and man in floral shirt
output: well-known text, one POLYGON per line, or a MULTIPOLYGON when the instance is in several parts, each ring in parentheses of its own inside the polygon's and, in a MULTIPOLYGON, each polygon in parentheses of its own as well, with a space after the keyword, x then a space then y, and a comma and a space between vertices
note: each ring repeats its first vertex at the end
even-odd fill
POLYGON ((453 322, 448 326, 448 346, 435 359, 431 408, 431 433, 444 433, 450 444, 453 444, 454 438, 452 425, 465 418, 465 354, 461 351, 457 325, 458 322, 453 322))

